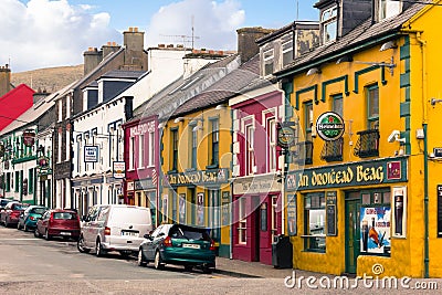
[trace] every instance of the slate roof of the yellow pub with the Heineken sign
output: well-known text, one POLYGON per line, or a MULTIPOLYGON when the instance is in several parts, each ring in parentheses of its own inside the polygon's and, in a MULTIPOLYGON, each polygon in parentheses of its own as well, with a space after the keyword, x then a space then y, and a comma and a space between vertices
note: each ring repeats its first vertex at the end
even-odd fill
POLYGON ((413 3, 399 15, 382 20, 375 24, 371 23, 371 18, 369 18, 346 35, 337 39, 335 42, 315 48, 311 52, 301 55, 283 70, 274 73, 274 75, 282 77, 293 72, 297 72, 297 70, 305 71, 303 66, 313 66, 315 65, 315 62, 318 65, 326 59, 333 59, 338 53, 346 53, 347 51, 355 50, 358 45, 368 41, 380 40, 379 42, 383 42, 381 40, 382 36, 397 33, 404 22, 410 20, 415 13, 425 7, 424 2, 429 3, 431 0, 422 0, 419 3, 413 3))

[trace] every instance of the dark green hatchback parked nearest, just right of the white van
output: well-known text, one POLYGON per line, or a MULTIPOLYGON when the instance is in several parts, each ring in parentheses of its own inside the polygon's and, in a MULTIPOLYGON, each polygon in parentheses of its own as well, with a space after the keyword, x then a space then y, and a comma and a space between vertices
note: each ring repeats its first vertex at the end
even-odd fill
POLYGON ((215 268, 215 246, 206 229, 162 224, 145 238, 138 251, 139 266, 152 261, 157 270, 165 264, 183 265, 187 271, 201 266, 204 273, 215 268))

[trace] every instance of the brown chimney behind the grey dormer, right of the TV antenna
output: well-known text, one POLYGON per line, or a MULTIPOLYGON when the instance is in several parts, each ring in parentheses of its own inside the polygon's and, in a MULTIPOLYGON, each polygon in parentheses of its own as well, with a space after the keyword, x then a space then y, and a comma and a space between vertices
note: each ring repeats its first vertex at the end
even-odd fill
POLYGON ((262 27, 238 29, 238 52, 241 55, 241 62, 244 63, 260 52, 256 40, 272 33, 273 30, 262 27))

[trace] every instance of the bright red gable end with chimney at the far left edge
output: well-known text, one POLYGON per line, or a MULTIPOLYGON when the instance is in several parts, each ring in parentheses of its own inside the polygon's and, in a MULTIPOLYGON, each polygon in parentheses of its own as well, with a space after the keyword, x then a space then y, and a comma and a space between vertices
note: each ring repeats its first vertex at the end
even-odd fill
POLYGON ((0 130, 32 106, 33 94, 25 84, 11 89, 11 70, 8 65, 0 67, 0 130))

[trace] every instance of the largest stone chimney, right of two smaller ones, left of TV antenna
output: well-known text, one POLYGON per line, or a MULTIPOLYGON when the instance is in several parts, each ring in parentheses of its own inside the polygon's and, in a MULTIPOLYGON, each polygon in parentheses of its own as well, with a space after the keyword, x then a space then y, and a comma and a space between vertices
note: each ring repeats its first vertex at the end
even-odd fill
POLYGON ((145 57, 145 32, 139 32, 138 28, 130 27, 123 33, 125 46, 125 66, 134 70, 146 71, 147 59, 145 57))

